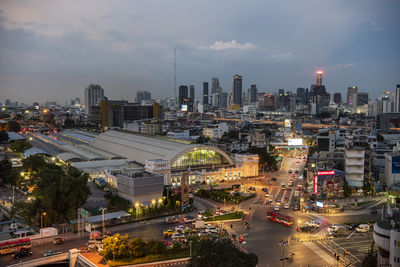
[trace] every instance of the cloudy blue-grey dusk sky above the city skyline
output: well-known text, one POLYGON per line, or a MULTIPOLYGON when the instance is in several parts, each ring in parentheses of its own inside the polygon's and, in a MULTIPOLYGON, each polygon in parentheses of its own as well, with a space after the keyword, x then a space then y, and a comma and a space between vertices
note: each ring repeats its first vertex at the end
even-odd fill
POLYGON ((398 0, 0 1, 0 102, 110 99, 219 77, 231 91, 295 90, 324 70, 330 92, 356 85, 377 97, 400 83, 398 0))

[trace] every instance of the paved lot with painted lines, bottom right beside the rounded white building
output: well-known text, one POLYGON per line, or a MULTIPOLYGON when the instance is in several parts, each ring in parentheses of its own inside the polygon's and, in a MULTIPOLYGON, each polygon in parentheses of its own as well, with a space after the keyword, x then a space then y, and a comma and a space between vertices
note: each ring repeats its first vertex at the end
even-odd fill
POLYGON ((339 255, 340 262, 343 264, 351 263, 349 266, 361 266, 365 255, 371 249, 372 233, 352 232, 347 237, 315 241, 315 244, 331 255, 334 253, 339 255), (348 252, 346 256, 344 256, 345 251, 348 252))

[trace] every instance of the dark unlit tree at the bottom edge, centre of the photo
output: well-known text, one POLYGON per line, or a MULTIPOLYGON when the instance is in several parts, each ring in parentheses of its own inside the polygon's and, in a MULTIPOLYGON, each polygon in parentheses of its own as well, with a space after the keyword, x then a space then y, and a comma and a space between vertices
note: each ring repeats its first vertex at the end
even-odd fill
POLYGON ((209 239, 203 239, 200 241, 195 255, 196 256, 190 259, 187 266, 251 267, 256 266, 258 263, 258 257, 255 254, 241 252, 229 239, 220 239, 216 242, 209 239))

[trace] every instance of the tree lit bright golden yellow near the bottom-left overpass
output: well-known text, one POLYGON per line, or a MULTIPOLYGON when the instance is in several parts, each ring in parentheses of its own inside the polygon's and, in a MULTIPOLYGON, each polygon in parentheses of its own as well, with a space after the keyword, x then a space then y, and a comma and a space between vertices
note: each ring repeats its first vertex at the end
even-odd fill
POLYGON ((100 252, 106 259, 122 259, 129 257, 128 235, 115 234, 103 240, 103 250, 100 252))

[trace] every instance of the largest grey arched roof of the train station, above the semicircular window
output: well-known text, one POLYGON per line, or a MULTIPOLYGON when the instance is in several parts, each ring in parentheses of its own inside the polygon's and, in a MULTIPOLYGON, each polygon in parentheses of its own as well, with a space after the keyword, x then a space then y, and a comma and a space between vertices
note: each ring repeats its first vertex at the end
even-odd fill
POLYGON ((217 151, 233 164, 229 155, 217 147, 193 145, 162 136, 147 136, 128 131, 107 131, 97 136, 90 145, 143 165, 146 160, 154 159, 164 159, 173 163, 178 155, 194 148, 217 151))

